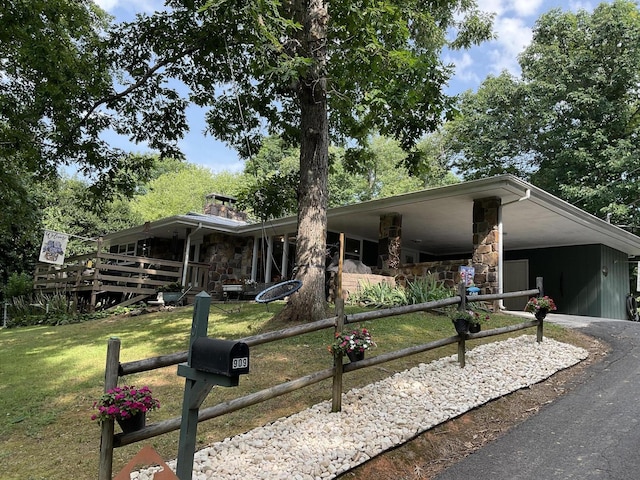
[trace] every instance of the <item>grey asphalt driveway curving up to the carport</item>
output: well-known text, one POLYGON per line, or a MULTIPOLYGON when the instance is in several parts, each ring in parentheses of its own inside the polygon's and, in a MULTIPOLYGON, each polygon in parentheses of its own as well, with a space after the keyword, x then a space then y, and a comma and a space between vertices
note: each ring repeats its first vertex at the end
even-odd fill
POLYGON ((640 323, 550 315, 611 346, 584 381, 437 480, 640 479, 640 323))

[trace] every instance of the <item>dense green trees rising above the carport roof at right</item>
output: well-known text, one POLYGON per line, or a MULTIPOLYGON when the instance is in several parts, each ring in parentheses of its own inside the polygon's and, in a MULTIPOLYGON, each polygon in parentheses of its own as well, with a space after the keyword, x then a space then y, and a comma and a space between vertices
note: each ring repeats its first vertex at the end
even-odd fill
POLYGON ((540 17, 507 73, 467 92, 448 127, 466 179, 512 173, 618 224, 640 220, 640 12, 634 2, 540 17))

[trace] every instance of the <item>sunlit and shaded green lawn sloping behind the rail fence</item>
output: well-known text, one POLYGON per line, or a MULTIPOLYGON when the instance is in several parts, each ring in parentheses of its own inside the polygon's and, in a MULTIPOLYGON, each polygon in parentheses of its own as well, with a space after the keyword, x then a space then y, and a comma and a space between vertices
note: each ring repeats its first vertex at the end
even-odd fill
MULTIPOLYGON (((283 328, 272 315, 278 302, 243 304, 240 312, 211 308, 209 336, 241 338, 283 328)), ((139 360, 188 348, 193 309, 138 317, 111 317, 57 327, 0 330, 0 471, 3 479, 92 479, 98 474, 100 428, 90 420, 93 402, 103 390, 107 340, 122 342, 121 361, 139 360)), ((483 328, 519 323, 520 319, 496 315, 483 328)), ((397 350, 454 334, 448 318, 417 313, 366 322, 378 348, 373 354, 397 350)), ((531 329, 526 333, 533 333, 531 329)), ((545 335, 566 341, 558 327, 545 326, 545 335)), ((523 332, 517 332, 520 335, 523 332)), ((293 337, 251 350, 251 373, 236 388, 214 388, 202 408, 331 366, 327 352, 332 331, 293 337)), ((484 341, 496 341, 496 338, 484 341)), ((472 348, 478 341, 469 342, 472 348)), ((451 345, 345 375, 345 391, 375 382, 420 362, 451 355, 451 345)), ((198 447, 264 425, 281 416, 331 398, 331 381, 301 389, 198 426, 198 447)), ((161 408, 148 423, 180 415, 184 379, 176 367, 136 374, 119 384, 149 385, 161 408)), ((177 456, 179 432, 116 449, 114 473, 144 445, 165 459, 177 456)))

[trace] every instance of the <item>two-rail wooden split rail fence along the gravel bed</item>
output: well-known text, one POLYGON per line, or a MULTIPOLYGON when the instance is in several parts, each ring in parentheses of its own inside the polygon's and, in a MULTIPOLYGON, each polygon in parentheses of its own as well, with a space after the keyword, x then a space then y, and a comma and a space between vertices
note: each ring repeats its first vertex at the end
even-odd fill
MULTIPOLYGON (((489 295, 466 295, 464 285, 461 284, 458 295, 443 300, 437 300, 433 302, 426 302, 414 305, 407 305, 401 307, 392 307, 386 309, 379 309, 369 312, 355 313, 350 315, 344 314, 344 303, 342 301, 336 302, 336 316, 325 318, 311 323, 303 325, 297 325, 273 332, 268 332, 260 335, 254 335, 246 338, 239 339, 237 341, 246 343, 249 348, 261 345, 269 342, 282 340, 285 338, 295 337, 306 333, 311 333, 323 329, 333 328, 336 332, 342 331, 344 325, 358 323, 363 321, 372 321, 382 318, 393 317, 397 315, 404 315, 414 312, 423 312, 451 305, 458 305, 458 309, 465 309, 466 304, 469 302, 491 302, 501 300, 504 298, 523 297, 523 296, 535 296, 543 295, 542 278, 536 279, 537 288, 531 290, 522 290, 517 292, 509 292, 502 294, 489 294, 489 295)), ((208 317, 208 309, 198 308, 198 304, 201 300, 210 300, 208 294, 202 292, 196 296, 196 304, 194 308, 194 321, 196 315, 206 315, 208 317)), ((287 393, 299 390, 301 388, 313 385, 323 380, 333 378, 332 387, 332 411, 339 411, 341 409, 342 399, 342 375, 343 373, 351 373, 362 368, 372 367, 392 360, 397 360, 410 355, 426 352, 436 348, 444 347, 454 343, 458 344, 458 362, 461 367, 465 366, 465 351, 466 341, 484 337, 492 337, 496 335, 502 335, 505 333, 515 332, 526 328, 537 327, 537 341, 541 342, 543 337, 543 320, 530 320, 522 323, 510 325, 507 327, 494 328, 491 330, 481 331, 478 333, 469 333, 466 335, 455 335, 452 337, 442 338, 432 342, 428 342, 422 345, 416 345, 394 352, 387 352, 384 354, 376 355, 373 357, 365 358, 358 362, 342 364, 342 358, 334 359, 334 364, 330 368, 319 370, 303 377, 290 380, 285 383, 281 383, 267 389, 251 393, 249 395, 238 397, 233 400, 228 400, 218 405, 204 408, 199 411, 198 422, 210 420, 220 417, 222 415, 232 413, 241 410, 246 407, 267 401, 269 399, 285 395, 287 393)), ((178 352, 169 355, 162 355, 158 357, 147 358, 143 360, 131 361, 126 363, 120 363, 120 340, 118 338, 111 338, 108 341, 107 347, 107 359, 105 370, 105 392, 111 388, 114 388, 118 384, 118 379, 134 373, 141 373, 151 371, 159 368, 168 367, 171 365, 177 365, 184 363, 188 358, 188 351, 178 352)), ((179 430, 182 423, 181 417, 175 417, 168 420, 164 420, 155 424, 145 426, 144 428, 131 433, 118 433, 114 434, 114 421, 106 421, 102 424, 101 432, 101 445, 100 445, 100 466, 99 466, 99 480, 110 480, 112 478, 112 463, 113 463, 113 450, 117 447, 122 447, 135 442, 140 442, 149 438, 156 437, 165 433, 169 433, 175 430, 179 430)))

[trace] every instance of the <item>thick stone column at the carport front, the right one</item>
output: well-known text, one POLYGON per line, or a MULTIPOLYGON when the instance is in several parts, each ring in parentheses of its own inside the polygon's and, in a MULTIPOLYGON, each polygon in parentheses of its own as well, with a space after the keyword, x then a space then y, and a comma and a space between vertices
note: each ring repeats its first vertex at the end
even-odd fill
POLYGON ((498 209, 501 200, 496 197, 473 201, 473 255, 474 283, 481 294, 498 293, 498 209))

